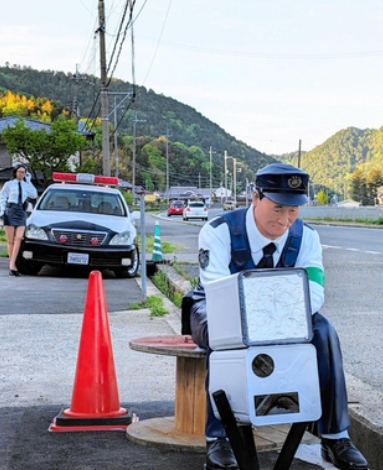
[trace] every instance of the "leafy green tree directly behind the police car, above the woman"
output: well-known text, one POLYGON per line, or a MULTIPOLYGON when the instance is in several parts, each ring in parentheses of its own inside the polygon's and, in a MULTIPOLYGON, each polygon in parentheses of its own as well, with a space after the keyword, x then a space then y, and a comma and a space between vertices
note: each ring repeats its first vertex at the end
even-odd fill
POLYGON ((15 126, 2 132, 2 139, 10 153, 20 155, 34 171, 44 175, 47 184, 54 171, 68 171, 68 159, 85 145, 85 137, 77 132, 73 121, 59 117, 50 132, 32 130, 19 119, 15 126))

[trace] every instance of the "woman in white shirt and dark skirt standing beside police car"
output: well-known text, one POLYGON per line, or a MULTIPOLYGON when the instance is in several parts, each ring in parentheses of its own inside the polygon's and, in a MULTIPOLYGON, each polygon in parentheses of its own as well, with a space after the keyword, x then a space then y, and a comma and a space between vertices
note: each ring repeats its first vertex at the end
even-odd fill
POLYGON ((30 180, 31 175, 27 173, 25 166, 19 163, 13 170, 13 179, 5 183, 0 193, 0 217, 4 217, 10 276, 19 276, 16 260, 25 231, 26 206, 28 198, 37 197, 36 188, 30 180))

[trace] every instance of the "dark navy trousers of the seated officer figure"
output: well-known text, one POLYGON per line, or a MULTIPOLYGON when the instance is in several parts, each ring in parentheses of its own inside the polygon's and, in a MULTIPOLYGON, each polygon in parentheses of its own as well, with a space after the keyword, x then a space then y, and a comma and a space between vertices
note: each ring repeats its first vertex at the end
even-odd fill
MULTIPOLYGON (((315 313, 313 340, 318 357, 318 374, 322 401, 322 417, 317 422, 319 434, 336 434, 350 427, 347 405, 346 382, 339 338, 330 321, 322 314, 315 313)), ((207 370, 209 371, 209 340, 207 331, 206 300, 196 301, 190 311, 190 327, 194 342, 208 351, 207 370)), ((209 372, 206 376, 206 391, 209 389, 209 372)), ((225 430, 214 415, 209 395, 207 397, 207 437, 224 437, 225 430)))

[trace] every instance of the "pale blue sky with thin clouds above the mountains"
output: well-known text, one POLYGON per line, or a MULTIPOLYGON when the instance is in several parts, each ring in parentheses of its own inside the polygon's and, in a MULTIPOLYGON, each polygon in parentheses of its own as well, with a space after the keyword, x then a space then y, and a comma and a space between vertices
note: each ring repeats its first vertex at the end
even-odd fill
MULTIPOLYGON (((108 62, 126 0, 104 3, 108 62)), ((98 4, 2 2, 0 65, 99 77, 98 4)), ((381 0, 136 0, 133 17, 137 85, 261 152, 383 126, 381 0)), ((114 77, 131 82, 130 43, 114 77)))

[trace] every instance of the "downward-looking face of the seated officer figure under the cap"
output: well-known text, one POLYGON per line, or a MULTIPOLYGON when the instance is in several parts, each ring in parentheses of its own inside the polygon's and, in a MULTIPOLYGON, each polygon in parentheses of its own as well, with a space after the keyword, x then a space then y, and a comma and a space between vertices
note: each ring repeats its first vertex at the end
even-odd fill
POLYGON ((283 206, 258 194, 253 197, 254 219, 261 234, 275 240, 283 235, 299 215, 299 206, 283 206))

